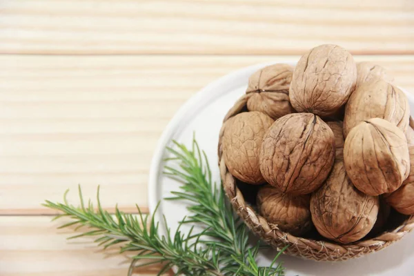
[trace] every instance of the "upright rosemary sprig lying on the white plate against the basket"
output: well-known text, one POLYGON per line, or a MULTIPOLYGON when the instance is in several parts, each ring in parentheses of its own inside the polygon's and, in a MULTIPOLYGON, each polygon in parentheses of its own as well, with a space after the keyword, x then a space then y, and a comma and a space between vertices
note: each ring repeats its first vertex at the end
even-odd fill
MULTIPOLYGON (((252 262, 257 257, 259 243, 253 248, 248 244, 248 228, 242 220, 233 213, 226 201, 224 190, 213 182, 208 159, 193 138, 191 150, 183 144, 173 141, 175 148, 167 148, 179 163, 179 170, 165 166, 165 174, 177 179, 183 185, 179 192, 173 191, 175 197, 167 199, 190 201, 188 210, 192 215, 182 221, 184 224, 199 223, 208 226, 204 235, 213 238, 213 242, 203 241, 204 244, 215 244, 221 249, 222 262, 226 264, 229 275, 240 273, 240 264, 256 264, 252 262), (216 242, 219 241, 219 242, 216 242), (235 262, 235 259, 239 262, 235 262)), ((244 275, 258 275, 256 270, 243 269, 244 275), (250 274, 249 274, 250 273, 250 274)), ((268 275, 283 275, 283 268, 268 268, 268 275)), ((266 274, 267 275, 267 274, 266 274)))

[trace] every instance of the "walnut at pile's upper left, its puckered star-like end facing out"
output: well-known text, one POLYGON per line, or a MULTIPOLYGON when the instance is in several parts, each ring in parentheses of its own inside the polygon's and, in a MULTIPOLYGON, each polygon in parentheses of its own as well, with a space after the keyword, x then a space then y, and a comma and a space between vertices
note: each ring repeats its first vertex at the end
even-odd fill
POLYGON ((277 119, 295 112, 290 105, 289 86, 293 67, 278 63, 255 72, 248 79, 247 108, 277 119))

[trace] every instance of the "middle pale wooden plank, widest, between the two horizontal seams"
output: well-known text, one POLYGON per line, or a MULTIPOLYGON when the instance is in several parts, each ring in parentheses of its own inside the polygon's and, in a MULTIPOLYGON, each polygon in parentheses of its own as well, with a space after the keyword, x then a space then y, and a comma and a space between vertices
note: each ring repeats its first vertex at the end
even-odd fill
MULTIPOLYGON (((228 72, 297 57, 0 56, 0 215, 50 214, 44 199, 147 211, 150 159, 186 99, 228 72)), ((414 56, 362 56, 414 91, 414 56)))

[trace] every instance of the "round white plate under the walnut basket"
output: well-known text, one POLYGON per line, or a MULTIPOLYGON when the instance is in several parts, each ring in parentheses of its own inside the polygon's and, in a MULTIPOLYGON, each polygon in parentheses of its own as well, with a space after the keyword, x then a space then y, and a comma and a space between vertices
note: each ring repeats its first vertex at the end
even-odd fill
MULTIPOLYGON (((295 65, 294 61, 288 61, 295 65)), ((219 168, 217 166, 217 142, 219 130, 226 112, 235 101, 241 97, 247 86, 248 77, 259 68, 272 63, 262 63, 233 72, 217 81, 210 83, 199 91, 194 97, 181 107, 170 124, 164 131, 155 155, 152 159, 149 179, 149 207, 155 210, 157 203, 161 205, 156 214, 161 228, 165 233, 165 225, 162 215, 166 217, 168 226, 174 231, 177 222, 188 214, 186 203, 179 201, 165 201, 164 197, 170 196, 172 190, 179 190, 179 184, 162 175, 164 168, 163 159, 168 157, 165 150, 170 141, 175 139, 179 143, 190 146, 195 132, 196 139, 201 149, 206 151, 213 179, 220 182, 219 168)), ((407 93, 406 93, 407 94, 407 93)), ((407 94, 411 110, 414 110, 414 98, 407 94)), ((188 228, 182 228, 186 230, 188 228)), ((313 262, 297 257, 282 256, 280 260, 286 267, 286 275, 318 275, 318 276, 350 276, 350 275, 414 275, 414 234, 407 235, 396 244, 377 253, 371 253, 359 259, 347 262, 326 263, 313 262)), ((266 250, 259 253, 259 263, 270 264, 275 255, 275 250, 266 250)))

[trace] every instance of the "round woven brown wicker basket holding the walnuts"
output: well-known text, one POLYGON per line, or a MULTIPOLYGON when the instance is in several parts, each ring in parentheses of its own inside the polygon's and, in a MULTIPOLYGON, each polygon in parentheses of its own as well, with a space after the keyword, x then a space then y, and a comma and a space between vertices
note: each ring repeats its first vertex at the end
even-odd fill
MULTIPOLYGON (((302 257, 304 259, 313 259, 315 261, 344 261, 354 259, 362 255, 386 248, 393 242, 401 239, 414 228, 414 216, 401 215, 397 212, 391 213, 387 221, 386 230, 382 231, 376 237, 368 234, 364 239, 352 244, 337 244, 324 239, 316 231, 313 231, 309 237, 295 237, 289 233, 280 230, 277 225, 270 224, 264 217, 261 217, 256 211, 253 204, 248 204, 242 190, 239 188, 239 181, 228 171, 224 157, 222 155, 221 138, 224 134, 226 121, 240 112, 246 112, 246 102, 249 95, 240 98, 233 108, 231 108, 220 131, 219 137, 219 167, 221 180, 223 182, 226 196, 230 200, 234 210, 250 228, 250 230, 266 241, 268 244, 281 250, 284 246, 288 248, 284 254, 302 257)), ((411 127, 414 127, 414 121, 411 120, 411 127)))

